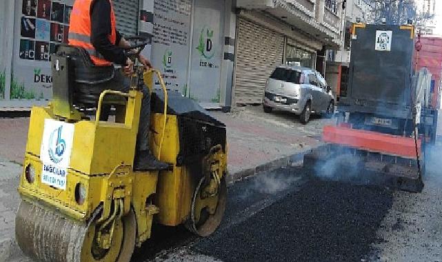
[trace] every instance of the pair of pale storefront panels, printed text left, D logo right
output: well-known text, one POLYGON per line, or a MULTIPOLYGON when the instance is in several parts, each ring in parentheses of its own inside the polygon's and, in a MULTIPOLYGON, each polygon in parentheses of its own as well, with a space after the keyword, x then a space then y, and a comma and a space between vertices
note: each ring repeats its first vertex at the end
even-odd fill
POLYGON ((151 59, 170 90, 195 101, 219 103, 224 9, 219 0, 154 1, 151 59))

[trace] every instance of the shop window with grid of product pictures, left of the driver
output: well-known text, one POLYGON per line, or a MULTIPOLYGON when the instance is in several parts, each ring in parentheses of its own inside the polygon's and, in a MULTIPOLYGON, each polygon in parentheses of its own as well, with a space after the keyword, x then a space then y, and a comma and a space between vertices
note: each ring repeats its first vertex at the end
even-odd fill
POLYGON ((68 42, 73 0, 15 1, 10 99, 51 99, 50 54, 68 42))

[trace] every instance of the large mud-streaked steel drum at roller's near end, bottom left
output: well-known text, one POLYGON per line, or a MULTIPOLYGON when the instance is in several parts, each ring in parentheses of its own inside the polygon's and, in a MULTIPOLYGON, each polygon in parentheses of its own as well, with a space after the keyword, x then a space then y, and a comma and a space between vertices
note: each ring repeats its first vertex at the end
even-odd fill
MULTIPOLYGON (((15 219, 15 234, 21 250, 32 259, 45 262, 128 262, 136 240, 134 212, 114 223, 109 249, 97 241, 100 225, 94 212, 89 223, 68 219, 39 205, 21 201, 15 219)), ((107 229, 103 229, 106 231, 107 229)))

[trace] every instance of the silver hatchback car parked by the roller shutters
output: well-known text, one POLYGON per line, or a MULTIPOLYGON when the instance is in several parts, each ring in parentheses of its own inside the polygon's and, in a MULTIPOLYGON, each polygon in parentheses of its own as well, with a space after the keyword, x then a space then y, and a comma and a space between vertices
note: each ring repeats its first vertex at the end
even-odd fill
POLYGON ((279 66, 265 85, 264 111, 290 111, 308 123, 311 114, 334 112, 334 97, 330 86, 316 70, 279 66))

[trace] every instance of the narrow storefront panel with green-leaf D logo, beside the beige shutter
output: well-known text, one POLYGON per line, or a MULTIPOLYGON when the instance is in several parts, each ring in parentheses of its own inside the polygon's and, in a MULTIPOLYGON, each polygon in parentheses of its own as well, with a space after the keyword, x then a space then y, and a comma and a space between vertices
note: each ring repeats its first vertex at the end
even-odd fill
POLYGON ((200 102, 220 101, 224 4, 218 0, 195 1, 190 97, 200 102))

